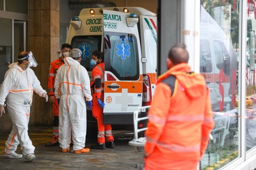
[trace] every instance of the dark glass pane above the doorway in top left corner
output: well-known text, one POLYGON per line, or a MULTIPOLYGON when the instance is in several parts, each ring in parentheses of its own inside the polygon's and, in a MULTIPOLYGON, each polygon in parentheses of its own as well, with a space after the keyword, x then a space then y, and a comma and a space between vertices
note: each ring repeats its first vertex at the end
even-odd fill
POLYGON ((5 10, 8 12, 28 14, 28 0, 5 0, 5 10))

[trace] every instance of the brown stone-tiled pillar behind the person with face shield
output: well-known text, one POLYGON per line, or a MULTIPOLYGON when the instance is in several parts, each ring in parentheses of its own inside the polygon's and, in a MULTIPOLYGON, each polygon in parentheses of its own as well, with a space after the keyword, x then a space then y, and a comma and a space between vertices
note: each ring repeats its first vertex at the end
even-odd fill
MULTIPOLYGON (((51 57, 59 49, 59 0, 29 1, 29 51, 33 52, 38 67, 33 68, 42 87, 47 90, 51 57)), ((34 93, 29 125, 51 125, 51 104, 34 93)))

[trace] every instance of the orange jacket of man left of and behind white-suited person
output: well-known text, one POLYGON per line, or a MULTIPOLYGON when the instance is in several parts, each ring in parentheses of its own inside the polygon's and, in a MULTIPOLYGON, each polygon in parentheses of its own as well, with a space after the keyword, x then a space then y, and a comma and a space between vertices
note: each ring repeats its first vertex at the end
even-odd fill
POLYGON ((50 69, 49 69, 49 75, 48 75, 48 95, 54 95, 54 82, 55 77, 57 74, 57 70, 61 65, 63 65, 64 62, 61 60, 61 58, 58 58, 57 60, 53 61, 51 63, 50 69))

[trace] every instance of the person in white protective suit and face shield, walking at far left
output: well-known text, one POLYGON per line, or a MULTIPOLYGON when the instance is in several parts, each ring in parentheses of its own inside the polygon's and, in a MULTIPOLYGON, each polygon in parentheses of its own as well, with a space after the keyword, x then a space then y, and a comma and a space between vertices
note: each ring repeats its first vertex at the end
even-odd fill
POLYGON ((0 116, 5 113, 5 99, 7 109, 12 120, 12 131, 5 142, 5 158, 23 158, 31 162, 35 159, 34 150, 28 134, 30 107, 33 101, 33 91, 48 101, 46 90, 42 88, 34 71, 29 67, 36 67, 32 52, 20 52, 18 63, 10 65, 0 87, 0 116), (18 144, 23 154, 16 154, 18 144))

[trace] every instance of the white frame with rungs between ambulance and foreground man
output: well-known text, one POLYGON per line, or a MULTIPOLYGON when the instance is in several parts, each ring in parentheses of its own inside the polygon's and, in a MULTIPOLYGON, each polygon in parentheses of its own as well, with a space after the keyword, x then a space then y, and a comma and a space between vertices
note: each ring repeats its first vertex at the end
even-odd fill
POLYGON ((140 148, 143 148, 145 146, 145 143, 146 143, 146 138, 145 137, 139 137, 139 133, 141 131, 146 131, 147 127, 138 129, 138 122, 141 121, 141 120, 147 120, 148 119, 147 116, 139 118, 139 113, 140 112, 146 112, 147 108, 150 108, 150 105, 149 106, 138 107, 138 109, 135 110, 134 114, 133 114, 134 139, 132 139, 132 141, 129 141, 129 145, 137 147, 137 150, 140 150, 140 148))

